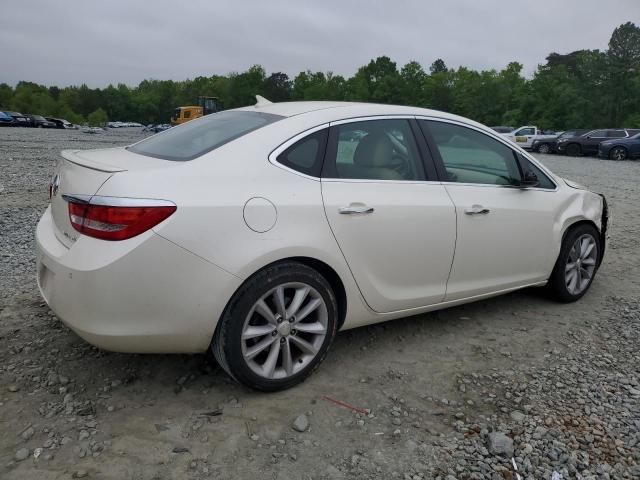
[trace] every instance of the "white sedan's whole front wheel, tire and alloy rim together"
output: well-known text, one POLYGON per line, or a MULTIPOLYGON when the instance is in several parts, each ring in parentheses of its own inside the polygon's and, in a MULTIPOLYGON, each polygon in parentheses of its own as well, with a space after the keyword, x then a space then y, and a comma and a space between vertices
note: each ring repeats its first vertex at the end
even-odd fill
POLYGON ((600 235, 592 225, 579 225, 564 238, 549 278, 552 295, 561 302, 575 302, 591 286, 600 264, 600 235))

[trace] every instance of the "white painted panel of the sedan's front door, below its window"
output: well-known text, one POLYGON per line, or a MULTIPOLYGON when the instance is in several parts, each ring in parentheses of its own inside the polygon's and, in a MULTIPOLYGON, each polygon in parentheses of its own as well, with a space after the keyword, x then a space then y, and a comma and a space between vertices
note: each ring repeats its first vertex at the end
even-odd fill
POLYGON ((446 189, 458 217, 446 300, 548 278, 554 263, 554 192, 454 183, 446 189), (467 213, 474 205, 488 212, 467 213))

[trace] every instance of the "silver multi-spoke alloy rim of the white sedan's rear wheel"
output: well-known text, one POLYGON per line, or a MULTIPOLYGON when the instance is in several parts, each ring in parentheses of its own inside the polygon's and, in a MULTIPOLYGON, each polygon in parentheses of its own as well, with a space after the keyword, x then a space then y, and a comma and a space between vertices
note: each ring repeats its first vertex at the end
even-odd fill
POLYGON ((242 355, 263 378, 291 377, 318 355, 327 325, 327 305, 316 289, 299 282, 278 285, 249 310, 242 328, 242 355))

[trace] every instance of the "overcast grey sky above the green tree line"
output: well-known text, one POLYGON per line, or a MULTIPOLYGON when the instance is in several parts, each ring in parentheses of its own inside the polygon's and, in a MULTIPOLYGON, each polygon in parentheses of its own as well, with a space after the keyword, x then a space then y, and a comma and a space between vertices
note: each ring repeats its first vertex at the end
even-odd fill
POLYGON ((0 82, 135 85, 261 64, 352 75, 388 55, 398 67, 436 58, 450 67, 531 73, 550 52, 606 49, 640 17, 637 0, 3 2, 0 82))

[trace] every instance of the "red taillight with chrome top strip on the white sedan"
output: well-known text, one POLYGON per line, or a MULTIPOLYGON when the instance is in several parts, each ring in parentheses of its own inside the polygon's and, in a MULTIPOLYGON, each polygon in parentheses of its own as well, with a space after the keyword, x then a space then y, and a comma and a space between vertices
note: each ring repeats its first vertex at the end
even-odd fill
POLYGON ((126 240, 167 219, 176 206, 164 200, 93 197, 88 202, 64 196, 69 220, 78 232, 102 240, 126 240))

